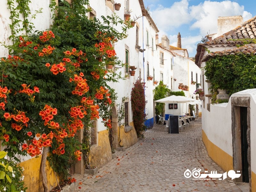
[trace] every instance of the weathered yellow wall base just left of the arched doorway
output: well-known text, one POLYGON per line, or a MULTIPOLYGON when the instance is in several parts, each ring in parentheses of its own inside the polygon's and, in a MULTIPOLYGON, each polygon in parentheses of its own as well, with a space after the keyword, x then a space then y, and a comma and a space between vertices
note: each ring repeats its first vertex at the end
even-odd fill
POLYGON ((100 131, 98 134, 98 145, 91 147, 89 163, 91 168, 100 168, 112 159, 111 147, 108 139, 108 130, 100 131))

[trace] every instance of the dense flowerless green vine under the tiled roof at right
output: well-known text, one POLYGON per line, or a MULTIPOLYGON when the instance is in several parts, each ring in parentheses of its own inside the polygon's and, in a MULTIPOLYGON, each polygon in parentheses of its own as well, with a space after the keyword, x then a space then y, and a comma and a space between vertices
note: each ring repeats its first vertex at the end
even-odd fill
POLYGON ((228 94, 256 85, 256 56, 248 54, 223 55, 209 59, 204 67, 205 76, 211 82, 212 93, 226 89, 228 94))

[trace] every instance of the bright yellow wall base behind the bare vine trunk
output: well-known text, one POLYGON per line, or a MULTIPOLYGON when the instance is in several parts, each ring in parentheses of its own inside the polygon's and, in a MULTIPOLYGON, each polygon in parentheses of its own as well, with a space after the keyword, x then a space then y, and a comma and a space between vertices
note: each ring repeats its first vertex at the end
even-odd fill
MULTIPOLYGON (((41 175, 40 175, 40 165, 42 156, 38 158, 31 158, 27 161, 21 162, 20 166, 24 168, 24 183, 28 187, 27 192, 44 192, 41 175)), ((53 188, 57 186, 57 181, 54 172, 49 165, 48 161, 46 163, 46 175, 48 181, 48 188, 53 188)))

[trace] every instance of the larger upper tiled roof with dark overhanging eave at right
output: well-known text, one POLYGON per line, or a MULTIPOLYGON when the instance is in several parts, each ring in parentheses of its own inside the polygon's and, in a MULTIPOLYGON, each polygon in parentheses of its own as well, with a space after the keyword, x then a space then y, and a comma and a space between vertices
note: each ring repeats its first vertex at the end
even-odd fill
POLYGON ((202 57, 205 52, 205 45, 217 44, 243 44, 243 39, 256 39, 256 16, 245 21, 242 26, 216 37, 212 41, 197 44, 195 63, 201 67, 202 57))

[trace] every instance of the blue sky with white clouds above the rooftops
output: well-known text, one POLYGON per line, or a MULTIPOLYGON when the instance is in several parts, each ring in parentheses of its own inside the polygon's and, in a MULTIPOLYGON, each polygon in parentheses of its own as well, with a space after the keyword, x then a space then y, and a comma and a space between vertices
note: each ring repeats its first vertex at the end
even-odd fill
POLYGON ((188 50, 189 57, 195 56, 196 45, 207 32, 217 33, 219 16, 242 15, 244 21, 256 16, 255 0, 144 0, 144 4, 159 29, 159 41, 167 35, 170 44, 177 46, 180 32, 182 48, 188 50))

